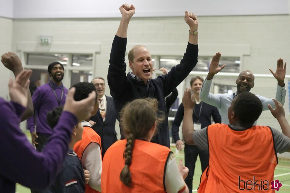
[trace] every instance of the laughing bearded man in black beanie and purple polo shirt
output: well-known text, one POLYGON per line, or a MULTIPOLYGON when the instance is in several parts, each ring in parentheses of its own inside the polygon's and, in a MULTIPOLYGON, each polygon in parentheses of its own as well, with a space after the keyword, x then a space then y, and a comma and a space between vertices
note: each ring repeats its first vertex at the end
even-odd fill
POLYGON ((42 146, 45 145, 46 140, 52 134, 52 130, 46 120, 46 114, 53 108, 65 104, 68 91, 62 84, 64 68, 60 62, 55 61, 49 64, 47 71, 50 80, 38 87, 33 94, 34 117, 30 117, 27 120, 27 126, 31 133, 31 142, 39 152, 41 152, 42 146), (36 120, 36 123, 34 120, 36 120))

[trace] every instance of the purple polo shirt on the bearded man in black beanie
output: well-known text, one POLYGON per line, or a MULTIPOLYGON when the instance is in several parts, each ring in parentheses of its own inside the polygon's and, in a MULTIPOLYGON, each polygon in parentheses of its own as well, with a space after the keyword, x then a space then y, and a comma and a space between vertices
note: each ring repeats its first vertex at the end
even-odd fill
MULTIPOLYGON (((51 80, 49 81, 57 94, 58 100, 61 99, 62 88, 64 88, 64 93, 62 100, 60 101, 60 105, 65 104, 65 99, 67 98, 67 88, 63 86, 57 86, 51 80)), ((38 87, 34 94, 32 95, 32 102, 34 107, 34 117, 36 116, 36 132, 50 136, 52 134, 52 130, 47 122, 46 115, 49 111, 58 107, 57 98, 49 85, 49 82, 38 87)), ((30 117, 27 119, 27 127, 32 133, 34 131, 34 117, 30 117)))

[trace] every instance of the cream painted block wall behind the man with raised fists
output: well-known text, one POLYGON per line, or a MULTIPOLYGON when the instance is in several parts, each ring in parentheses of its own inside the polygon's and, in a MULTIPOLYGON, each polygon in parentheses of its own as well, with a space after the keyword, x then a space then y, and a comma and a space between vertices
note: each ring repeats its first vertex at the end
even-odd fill
MULTIPOLYGON (((222 56, 241 56, 242 70, 249 69, 260 74, 269 74, 268 68, 275 68, 278 58, 290 61, 289 15, 212 16, 198 19, 200 56, 211 56, 218 51, 222 56)), ((52 36, 52 44, 100 44, 100 51, 96 54, 95 75, 104 76, 119 20, 17 19, 13 22, 12 48, 16 51, 17 45, 23 47, 23 42, 37 43, 41 35, 52 36)), ((128 49, 136 44, 144 44, 152 55, 183 55, 187 40, 188 25, 183 17, 132 18, 128 29, 128 49)), ((74 50, 83 52, 81 48, 74 50)), ((39 51, 39 48, 35 51, 39 51)))

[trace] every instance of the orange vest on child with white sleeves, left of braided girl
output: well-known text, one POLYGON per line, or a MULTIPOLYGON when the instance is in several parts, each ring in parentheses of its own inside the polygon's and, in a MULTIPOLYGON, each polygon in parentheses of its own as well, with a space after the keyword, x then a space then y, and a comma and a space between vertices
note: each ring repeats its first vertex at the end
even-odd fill
MULTIPOLYGON (((90 143, 97 143, 100 148, 101 146, 101 137, 97 134, 91 127, 84 126, 83 127, 83 138, 82 140, 75 143, 73 150, 78 155, 78 158, 82 160, 83 152, 90 145, 90 143)), ((101 149, 101 157, 102 157, 102 149, 101 149)), ((86 193, 96 193, 95 189, 92 189, 88 184, 85 184, 86 193)))

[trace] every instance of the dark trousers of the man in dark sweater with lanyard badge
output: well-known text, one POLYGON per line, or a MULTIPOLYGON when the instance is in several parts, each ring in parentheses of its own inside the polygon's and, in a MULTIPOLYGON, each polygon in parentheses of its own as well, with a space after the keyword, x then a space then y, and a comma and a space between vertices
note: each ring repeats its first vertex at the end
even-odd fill
POLYGON ((192 192, 192 180, 195 169, 195 162, 198 155, 200 158, 203 172, 208 166, 209 159, 208 151, 200 150, 198 147, 196 147, 196 145, 187 145, 187 144, 184 145, 185 166, 188 167, 189 169, 188 176, 184 181, 188 186, 189 192, 192 192))

